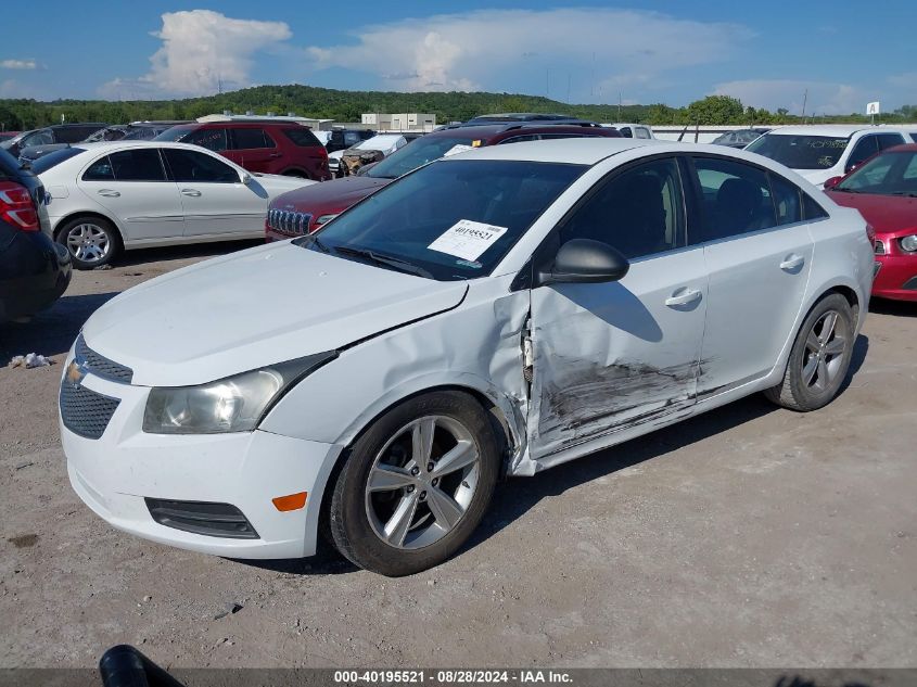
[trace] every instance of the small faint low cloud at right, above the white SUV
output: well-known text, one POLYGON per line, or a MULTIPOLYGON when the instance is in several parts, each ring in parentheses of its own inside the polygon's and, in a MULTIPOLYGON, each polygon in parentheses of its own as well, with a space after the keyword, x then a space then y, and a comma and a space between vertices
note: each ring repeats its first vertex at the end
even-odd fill
POLYGON ((731 96, 752 107, 776 112, 780 107, 790 114, 843 115, 865 112, 866 103, 876 100, 875 93, 850 84, 804 81, 795 79, 748 79, 727 81, 714 87, 714 94, 731 96), (807 92, 807 96, 806 96, 807 92))

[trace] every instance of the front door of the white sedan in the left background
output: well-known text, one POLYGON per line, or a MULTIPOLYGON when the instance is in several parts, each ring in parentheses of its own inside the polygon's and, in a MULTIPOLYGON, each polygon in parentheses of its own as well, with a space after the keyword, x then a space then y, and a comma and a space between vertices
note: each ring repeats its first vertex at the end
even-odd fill
POLYGON ((163 148, 184 213, 184 236, 264 236, 268 194, 253 179, 242 183, 235 167, 216 155, 187 148, 163 148))

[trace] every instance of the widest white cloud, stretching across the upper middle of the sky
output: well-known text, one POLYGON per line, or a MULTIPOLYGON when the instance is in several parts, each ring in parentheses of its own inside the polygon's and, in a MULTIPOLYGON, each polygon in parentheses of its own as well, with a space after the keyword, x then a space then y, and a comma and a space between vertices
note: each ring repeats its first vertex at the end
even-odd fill
MULTIPOLYGON (((735 24, 600 8, 481 10, 367 26, 354 35, 355 44, 307 52, 318 68, 368 72, 383 87, 404 91, 500 89, 521 73, 555 67, 609 87, 645 84, 727 60, 752 36, 735 24)), ((563 81, 565 90, 566 76, 563 81)))

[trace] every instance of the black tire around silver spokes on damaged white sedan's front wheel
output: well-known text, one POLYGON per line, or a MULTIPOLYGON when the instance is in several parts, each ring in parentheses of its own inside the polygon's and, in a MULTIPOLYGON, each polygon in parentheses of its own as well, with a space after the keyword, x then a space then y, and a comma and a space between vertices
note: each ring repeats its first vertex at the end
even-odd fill
MULTIPOLYGON (((411 440, 413 434, 410 434, 411 440)), ((458 443, 451 446, 456 448, 458 443)), ((422 455, 424 454, 421 453, 422 455)), ((349 450, 334 484, 329 509, 329 525, 335 547, 356 565, 393 577, 420 572, 445 561, 471 536, 487 510, 499 473, 499 445, 494 435, 493 425, 487 412, 474 398, 454 391, 433 392, 409 398, 375 420, 349 450), (456 432, 464 437, 459 443, 476 450, 476 462, 472 463, 473 467, 464 468, 466 471, 473 470, 474 472, 459 470, 450 475, 442 476, 442 482, 440 482, 442 489, 437 491, 435 499, 429 482, 426 486, 418 483, 417 487, 391 487, 381 492, 370 492, 368 489, 370 474, 377 474, 375 469, 380 465, 384 463, 383 467, 386 469, 395 467, 398 470, 409 469, 409 466, 413 465, 416 445, 411 443, 408 451, 404 446, 405 437, 411 432, 410 427, 430 422, 431 418, 434 418, 434 429, 430 432, 433 438, 429 442, 430 453, 426 454, 429 457, 422 460, 428 461, 428 466, 435 467, 438 460, 448 454, 449 437, 453 436, 451 432, 456 432), (436 422, 445 423, 453 430, 444 429, 443 424, 436 424, 436 422), (464 434, 458 431, 459 428, 464 434), (383 454, 383 449, 386 453, 383 454), (397 455, 399 450, 403 458, 400 462, 397 455), (437 451, 441 451, 441 455, 436 455, 437 451), (406 453, 411 455, 405 455, 406 453), (385 461, 382 461, 383 458, 385 461), (387 462, 389 460, 394 462, 387 462), (402 468, 396 466, 402 466, 402 468), (460 481, 453 481, 456 478, 460 481), (454 498, 454 505, 459 505, 462 489, 469 487, 470 483, 474 486, 470 492, 470 500, 464 505, 463 513, 446 530, 445 534, 442 534, 440 531, 444 527, 440 525, 440 518, 434 514, 434 501, 435 508, 441 509, 440 495, 450 493, 453 489, 447 485, 447 480, 450 481, 449 484, 457 484, 455 493, 449 495, 454 498), (378 533, 378 529, 385 523, 377 517, 377 505, 384 508, 384 499, 389 499, 392 504, 389 508, 393 514, 387 523, 391 524, 395 521, 398 510, 411 498, 420 499, 426 494, 426 491, 422 489, 426 488, 431 489, 429 501, 424 506, 424 502, 415 500, 417 505, 409 511, 410 514, 406 521, 417 524, 411 525, 410 530, 407 529, 408 525, 405 525, 402 545, 393 546, 391 542, 383 540, 383 533, 378 533), (415 496, 410 497, 409 494, 415 496), (423 526, 424 524, 426 526, 423 526), (407 548, 410 546, 409 536, 415 537, 417 548, 407 548), (431 540, 430 544, 423 543, 424 539, 433 536, 440 538, 431 540)), ((436 479, 431 478, 435 474, 435 469, 430 470, 428 467, 426 470, 425 473, 421 470, 417 479, 433 479, 432 484, 435 486, 436 479)), ((387 472, 387 470, 383 471, 387 472)), ((464 494, 467 495, 468 492, 464 494)), ((441 510, 441 512, 444 511, 441 510)), ((447 522, 447 519, 443 518, 443 522, 447 522)))

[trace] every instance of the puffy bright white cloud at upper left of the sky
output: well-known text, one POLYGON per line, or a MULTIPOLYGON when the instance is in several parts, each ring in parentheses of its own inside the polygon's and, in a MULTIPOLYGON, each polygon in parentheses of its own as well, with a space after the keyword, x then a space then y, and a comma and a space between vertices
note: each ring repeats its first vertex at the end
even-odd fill
POLYGON ((211 10, 163 14, 153 36, 163 41, 139 78, 116 78, 100 92, 110 98, 193 96, 250 85, 253 55, 292 37, 283 22, 235 20, 211 10))

